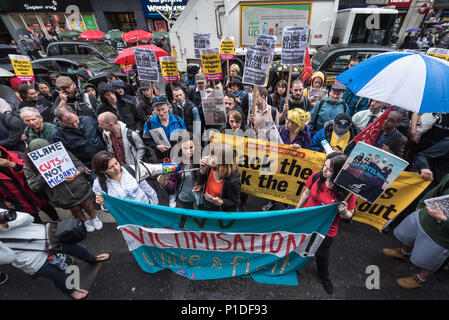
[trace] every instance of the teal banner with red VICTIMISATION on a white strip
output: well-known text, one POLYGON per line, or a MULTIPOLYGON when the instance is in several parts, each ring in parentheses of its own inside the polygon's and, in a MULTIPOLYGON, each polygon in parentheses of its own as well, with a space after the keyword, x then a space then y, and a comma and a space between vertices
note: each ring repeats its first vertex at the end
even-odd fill
POLYGON ((143 271, 171 269, 192 280, 250 276, 278 285, 298 285, 296 271, 320 246, 338 205, 229 213, 104 196, 143 271))

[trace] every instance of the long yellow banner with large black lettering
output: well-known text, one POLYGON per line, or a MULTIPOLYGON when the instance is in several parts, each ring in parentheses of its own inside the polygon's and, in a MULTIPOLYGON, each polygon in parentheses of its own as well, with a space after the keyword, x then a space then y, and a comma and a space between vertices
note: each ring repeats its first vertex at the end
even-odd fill
MULTIPOLYGON (((306 189, 305 181, 323 168, 326 158, 321 152, 251 138, 223 134, 213 138, 236 151, 242 192, 294 206, 306 189)), ((353 219, 381 231, 429 184, 421 175, 404 171, 374 204, 357 198, 353 219)))

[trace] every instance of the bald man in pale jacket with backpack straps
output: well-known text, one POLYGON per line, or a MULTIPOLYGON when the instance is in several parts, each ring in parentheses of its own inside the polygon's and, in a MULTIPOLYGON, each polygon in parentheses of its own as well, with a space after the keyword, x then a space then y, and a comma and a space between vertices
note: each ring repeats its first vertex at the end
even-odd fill
POLYGON ((139 134, 126 127, 112 112, 98 116, 98 125, 103 129, 103 140, 109 152, 113 153, 121 165, 135 165, 136 160, 143 160, 145 145, 139 134))

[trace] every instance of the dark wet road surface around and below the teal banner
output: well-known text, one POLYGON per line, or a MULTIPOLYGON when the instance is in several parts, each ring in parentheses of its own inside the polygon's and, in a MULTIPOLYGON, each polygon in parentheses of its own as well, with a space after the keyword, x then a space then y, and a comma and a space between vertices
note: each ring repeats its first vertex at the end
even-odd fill
MULTIPOLYGON (((260 210, 266 200, 250 196, 248 211, 260 210)), ((58 210, 62 218, 69 211, 58 210)), ((104 227, 90 233, 83 242, 94 254, 109 252, 111 259, 93 266, 76 261, 80 267, 81 288, 89 290, 89 300, 444 300, 449 299, 449 272, 440 271, 424 287, 404 290, 395 279, 416 273, 418 268, 410 262, 385 257, 384 247, 399 247, 392 232, 352 221, 341 222, 339 234, 330 254, 330 274, 335 292, 328 295, 316 273, 315 261, 297 272, 298 286, 266 285, 250 278, 220 280, 189 280, 170 270, 155 274, 143 272, 129 252, 116 229, 117 223, 107 212, 98 211, 104 227), (374 266, 374 267, 373 267, 374 266), (367 289, 366 282, 372 268, 379 270, 379 288, 367 289), (367 270, 368 268, 368 270, 367 270)), ((41 214, 45 220, 45 214, 41 214)), ((0 287, 0 300, 71 300, 61 293, 50 280, 31 279, 14 267, 2 266, 9 280, 0 287)))

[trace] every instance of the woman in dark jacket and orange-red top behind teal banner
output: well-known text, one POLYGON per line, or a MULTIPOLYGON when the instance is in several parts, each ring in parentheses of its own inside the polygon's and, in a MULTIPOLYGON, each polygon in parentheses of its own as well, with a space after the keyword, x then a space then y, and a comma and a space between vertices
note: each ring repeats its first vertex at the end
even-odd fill
POLYGON ((194 192, 204 190, 204 202, 200 209, 238 211, 241 183, 232 146, 213 144, 210 155, 201 159, 200 168, 198 184, 193 188, 194 192))

